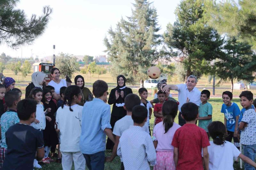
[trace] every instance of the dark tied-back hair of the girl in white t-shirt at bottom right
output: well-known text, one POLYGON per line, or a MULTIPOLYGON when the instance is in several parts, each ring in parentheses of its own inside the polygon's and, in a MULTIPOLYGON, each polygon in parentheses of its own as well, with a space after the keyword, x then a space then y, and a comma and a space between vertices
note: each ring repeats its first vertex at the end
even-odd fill
POLYGON ((221 145, 225 143, 227 137, 226 126, 220 121, 214 121, 208 125, 208 131, 213 139, 213 143, 221 145))

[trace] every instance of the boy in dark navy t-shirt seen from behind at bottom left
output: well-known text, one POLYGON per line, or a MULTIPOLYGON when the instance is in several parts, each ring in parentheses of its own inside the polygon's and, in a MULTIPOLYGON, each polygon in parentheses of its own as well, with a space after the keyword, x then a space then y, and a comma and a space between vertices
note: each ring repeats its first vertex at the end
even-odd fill
POLYGON ((30 126, 36 119, 36 101, 21 100, 17 105, 20 122, 11 126, 5 133, 7 151, 4 170, 33 170, 35 159, 44 158, 43 131, 30 126))

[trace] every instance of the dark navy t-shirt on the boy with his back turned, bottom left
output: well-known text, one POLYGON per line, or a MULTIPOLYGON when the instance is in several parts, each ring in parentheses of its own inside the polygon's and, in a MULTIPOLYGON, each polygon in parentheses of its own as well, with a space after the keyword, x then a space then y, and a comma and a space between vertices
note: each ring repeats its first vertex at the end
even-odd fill
POLYGON ((3 169, 33 169, 36 149, 44 147, 43 134, 25 124, 15 124, 6 132, 7 151, 3 169))

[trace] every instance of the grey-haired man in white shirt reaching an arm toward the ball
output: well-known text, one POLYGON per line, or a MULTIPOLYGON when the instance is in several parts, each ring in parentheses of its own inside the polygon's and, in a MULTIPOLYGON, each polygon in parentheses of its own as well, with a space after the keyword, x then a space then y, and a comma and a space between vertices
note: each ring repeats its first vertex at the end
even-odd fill
POLYGON ((179 125, 183 126, 186 122, 181 117, 181 106, 187 102, 195 103, 197 106, 200 105, 200 95, 201 92, 195 87, 197 83, 196 76, 190 75, 188 76, 186 84, 179 84, 179 85, 166 85, 163 87, 162 91, 165 92, 168 89, 170 90, 177 90, 178 93, 178 100, 179 100, 179 125))

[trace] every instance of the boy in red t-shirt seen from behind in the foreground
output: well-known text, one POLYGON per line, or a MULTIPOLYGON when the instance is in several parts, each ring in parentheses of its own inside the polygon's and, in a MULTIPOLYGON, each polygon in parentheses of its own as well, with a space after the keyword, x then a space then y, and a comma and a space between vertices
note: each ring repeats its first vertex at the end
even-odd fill
POLYGON ((208 170, 209 154, 207 146, 210 146, 210 143, 206 131, 196 126, 198 106, 191 102, 185 103, 181 107, 181 113, 186 124, 176 130, 172 139, 176 170, 208 170), (204 159, 204 167, 202 159, 204 159))

